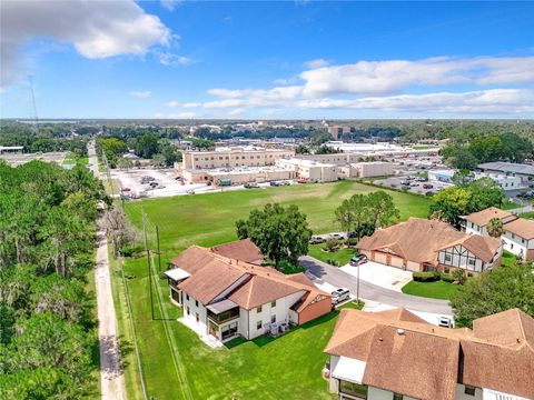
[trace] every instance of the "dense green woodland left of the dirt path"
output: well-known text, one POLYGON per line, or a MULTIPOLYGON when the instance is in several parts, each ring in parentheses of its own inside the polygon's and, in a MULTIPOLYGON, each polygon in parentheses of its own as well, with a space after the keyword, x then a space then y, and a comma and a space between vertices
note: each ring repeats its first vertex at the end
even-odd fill
POLYGON ((0 162, 0 398, 87 396, 98 341, 86 276, 103 188, 83 167, 0 162))

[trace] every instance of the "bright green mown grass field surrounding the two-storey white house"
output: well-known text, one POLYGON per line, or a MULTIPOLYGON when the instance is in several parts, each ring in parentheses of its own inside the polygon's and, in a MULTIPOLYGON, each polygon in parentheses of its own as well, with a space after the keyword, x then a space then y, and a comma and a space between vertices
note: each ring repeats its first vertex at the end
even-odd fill
MULTIPOLYGON (((239 190, 212 194, 181 196, 126 203, 130 220, 140 228, 142 209, 148 216, 149 246, 156 249, 159 228, 161 270, 192 243, 214 246, 235 240, 235 221, 268 202, 295 203, 308 216, 314 232, 339 230, 334 209, 357 192, 377 190, 357 182, 304 184, 265 190, 239 190)), ((390 191, 402 218, 426 217, 428 200, 390 191)), ((155 317, 150 318, 147 261, 129 259, 123 264, 147 392, 155 399, 333 399, 320 376, 326 360, 323 349, 337 313, 299 327, 276 340, 236 343, 212 350, 176 319, 181 310, 168 300, 167 281, 154 271, 155 317), (235 344, 235 346, 234 346, 235 344)), ((154 269, 159 269, 155 262, 154 269)), ((113 269, 113 296, 118 303, 119 330, 131 344, 132 329, 126 311, 125 287, 113 269), (128 326, 130 324, 130 328, 128 326)), ((126 382, 129 398, 140 398, 136 359, 127 354, 126 382), (136 362, 135 362, 136 361, 136 362)))

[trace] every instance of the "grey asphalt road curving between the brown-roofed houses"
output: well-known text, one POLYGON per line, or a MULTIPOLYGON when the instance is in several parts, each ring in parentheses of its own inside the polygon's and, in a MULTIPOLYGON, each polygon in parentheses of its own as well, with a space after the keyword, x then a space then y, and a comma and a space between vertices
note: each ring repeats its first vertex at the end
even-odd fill
MULTIPOLYGON (((356 294, 358 286, 356 277, 309 256, 301 257, 299 261, 303 267, 318 279, 337 288, 347 288, 353 294, 356 294)), ((384 289, 364 280, 359 280, 359 297, 384 304, 407 307, 416 311, 441 313, 444 316, 451 316, 453 313, 446 300, 404 294, 394 290, 384 289)))

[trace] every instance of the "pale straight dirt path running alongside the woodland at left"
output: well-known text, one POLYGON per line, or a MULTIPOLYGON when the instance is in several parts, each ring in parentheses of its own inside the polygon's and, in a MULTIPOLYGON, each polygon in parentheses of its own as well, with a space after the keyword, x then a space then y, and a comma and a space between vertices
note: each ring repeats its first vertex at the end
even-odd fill
MULTIPOLYGON (((99 223, 99 226, 101 224, 99 223)), ((101 398, 109 400, 123 400, 126 399, 125 376, 120 367, 117 318, 115 316, 111 280, 109 277, 108 241, 103 229, 99 228, 97 238, 98 250, 95 282, 97 287, 98 302, 101 398)))

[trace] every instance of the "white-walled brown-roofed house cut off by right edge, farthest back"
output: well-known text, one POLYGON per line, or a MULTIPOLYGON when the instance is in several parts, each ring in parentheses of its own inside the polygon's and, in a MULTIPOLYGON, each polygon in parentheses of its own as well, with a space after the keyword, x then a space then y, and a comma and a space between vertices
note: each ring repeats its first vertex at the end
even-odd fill
POLYGON ((504 250, 523 260, 534 260, 534 221, 520 218, 508 211, 495 207, 464 217, 463 229, 467 233, 487 237, 487 224, 493 218, 503 222, 504 233, 501 236, 504 250))

